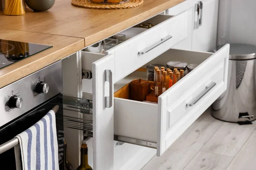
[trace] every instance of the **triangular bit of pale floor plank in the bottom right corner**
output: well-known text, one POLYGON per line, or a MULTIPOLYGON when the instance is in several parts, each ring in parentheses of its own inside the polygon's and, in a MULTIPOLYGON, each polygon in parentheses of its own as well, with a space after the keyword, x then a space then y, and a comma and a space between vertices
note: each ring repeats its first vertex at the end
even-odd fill
POLYGON ((249 137, 239 153, 233 159, 227 170, 255 170, 256 169, 256 130, 249 137))

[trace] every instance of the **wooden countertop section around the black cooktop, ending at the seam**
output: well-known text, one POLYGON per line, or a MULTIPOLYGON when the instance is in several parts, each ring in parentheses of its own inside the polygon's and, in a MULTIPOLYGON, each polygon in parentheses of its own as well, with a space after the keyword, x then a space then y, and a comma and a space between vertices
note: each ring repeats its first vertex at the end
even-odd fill
POLYGON ((0 39, 53 45, 45 51, 0 69, 0 88, 84 48, 84 39, 0 28, 0 39))

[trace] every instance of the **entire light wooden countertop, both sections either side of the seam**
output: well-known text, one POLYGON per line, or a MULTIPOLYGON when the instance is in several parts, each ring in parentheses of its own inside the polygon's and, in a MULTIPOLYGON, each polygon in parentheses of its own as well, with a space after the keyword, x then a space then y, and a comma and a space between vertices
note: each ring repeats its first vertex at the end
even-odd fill
POLYGON ((185 0, 144 0, 136 8, 97 10, 55 0, 45 12, 21 16, 0 11, 0 39, 53 45, 46 51, 0 69, 0 88, 102 39, 136 25, 185 0))

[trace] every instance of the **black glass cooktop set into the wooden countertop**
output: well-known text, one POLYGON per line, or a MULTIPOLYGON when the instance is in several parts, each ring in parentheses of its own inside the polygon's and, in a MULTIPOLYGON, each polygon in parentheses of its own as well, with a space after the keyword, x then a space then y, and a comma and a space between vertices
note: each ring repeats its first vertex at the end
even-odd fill
POLYGON ((0 69, 52 46, 0 39, 0 69))

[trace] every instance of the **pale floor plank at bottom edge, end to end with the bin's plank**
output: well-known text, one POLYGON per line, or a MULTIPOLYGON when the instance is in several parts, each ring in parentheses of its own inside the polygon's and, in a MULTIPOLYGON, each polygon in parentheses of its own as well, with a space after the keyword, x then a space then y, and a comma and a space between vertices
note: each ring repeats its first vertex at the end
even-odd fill
POLYGON ((233 157, 200 151, 184 170, 226 170, 233 157))

